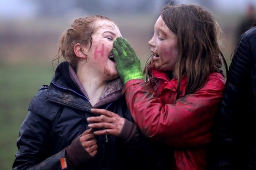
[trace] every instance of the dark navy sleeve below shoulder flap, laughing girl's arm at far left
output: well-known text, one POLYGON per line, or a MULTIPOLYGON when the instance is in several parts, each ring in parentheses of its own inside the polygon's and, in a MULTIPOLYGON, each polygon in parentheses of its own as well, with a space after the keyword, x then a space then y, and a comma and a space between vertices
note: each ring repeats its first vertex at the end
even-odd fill
POLYGON ((47 136, 51 127, 49 119, 28 113, 20 127, 13 170, 61 170, 60 159, 65 157, 65 149, 52 156, 49 153, 47 136))

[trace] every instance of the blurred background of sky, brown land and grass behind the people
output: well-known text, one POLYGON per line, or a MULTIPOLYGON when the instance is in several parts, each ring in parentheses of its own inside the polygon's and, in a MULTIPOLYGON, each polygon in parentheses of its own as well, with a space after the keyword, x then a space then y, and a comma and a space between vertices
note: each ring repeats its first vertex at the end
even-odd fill
MULTIPOLYGON (((57 63, 58 38, 77 17, 102 14, 116 21, 141 59, 150 50, 154 23, 168 0, 1 0, 0 1, 0 170, 12 169, 16 140, 29 102, 48 85, 57 63)), ((256 0, 176 0, 213 12, 225 34, 230 64, 239 37, 255 19, 256 0), (251 19, 250 19, 251 18, 251 19), (242 26, 240 26, 242 25, 242 26)))

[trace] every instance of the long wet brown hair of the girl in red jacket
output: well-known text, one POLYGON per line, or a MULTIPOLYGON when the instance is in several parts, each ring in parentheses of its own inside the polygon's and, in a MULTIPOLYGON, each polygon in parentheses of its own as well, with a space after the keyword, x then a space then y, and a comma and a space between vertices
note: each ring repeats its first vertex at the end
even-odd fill
MULTIPOLYGON (((197 4, 167 4, 160 16, 177 36, 178 60, 170 77, 177 78, 178 99, 183 77, 188 79, 185 94, 191 94, 204 87, 210 73, 222 72, 222 62, 227 66, 220 48, 223 32, 213 14, 197 4)), ((146 63, 144 73, 151 62, 146 63)))

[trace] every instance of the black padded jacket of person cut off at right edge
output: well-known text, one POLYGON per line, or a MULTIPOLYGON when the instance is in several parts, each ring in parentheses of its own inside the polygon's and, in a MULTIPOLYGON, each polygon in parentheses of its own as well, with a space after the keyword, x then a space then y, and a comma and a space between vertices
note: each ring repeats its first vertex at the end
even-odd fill
POLYGON ((215 169, 256 170, 256 27, 239 40, 216 118, 215 169))

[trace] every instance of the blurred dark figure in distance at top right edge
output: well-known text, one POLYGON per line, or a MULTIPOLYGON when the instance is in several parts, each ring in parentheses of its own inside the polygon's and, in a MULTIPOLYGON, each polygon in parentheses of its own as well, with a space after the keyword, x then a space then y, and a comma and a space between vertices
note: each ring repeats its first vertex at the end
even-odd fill
POLYGON ((241 34, 247 31, 253 26, 253 23, 256 21, 256 11, 253 4, 249 4, 246 8, 245 15, 241 20, 236 32, 236 42, 239 42, 241 34))

